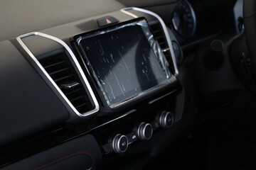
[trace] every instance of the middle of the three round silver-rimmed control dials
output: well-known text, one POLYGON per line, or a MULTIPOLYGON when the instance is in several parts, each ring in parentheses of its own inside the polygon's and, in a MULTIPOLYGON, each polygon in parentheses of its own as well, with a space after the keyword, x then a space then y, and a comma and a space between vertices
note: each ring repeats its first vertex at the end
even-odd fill
POLYGON ((140 140, 149 140, 152 137, 153 128, 149 123, 141 123, 137 133, 140 140))

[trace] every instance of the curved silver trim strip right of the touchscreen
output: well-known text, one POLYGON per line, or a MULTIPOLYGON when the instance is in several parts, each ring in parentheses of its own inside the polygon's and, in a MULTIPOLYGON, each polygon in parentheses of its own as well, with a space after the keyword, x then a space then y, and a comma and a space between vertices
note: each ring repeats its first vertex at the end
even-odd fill
POLYGON ((138 18, 138 16, 136 16, 136 15, 134 15, 133 13, 130 13, 130 12, 129 12, 129 11, 131 11, 131 10, 139 11, 139 12, 142 12, 142 13, 147 13, 147 14, 149 14, 149 15, 151 15, 151 16, 156 17, 156 18, 159 20, 159 22, 161 23, 161 26, 162 26, 162 28, 163 28, 163 30, 164 30, 164 34, 166 35, 166 40, 167 40, 169 49, 170 49, 170 51, 171 51, 171 59, 172 59, 173 62, 174 62, 174 70, 175 70, 174 76, 177 77, 177 76, 178 76, 178 67, 177 67, 176 58, 175 58, 175 55, 174 55, 174 49, 173 49, 173 47, 172 47, 172 45, 171 45, 171 38, 170 38, 170 35, 169 35, 169 33, 168 33, 168 30, 167 30, 166 25, 165 25, 164 21, 162 20, 162 18, 161 18, 159 15, 157 15, 156 13, 151 12, 151 11, 148 11, 148 10, 143 9, 143 8, 137 8, 137 7, 122 8, 120 11, 121 11, 122 13, 126 13, 127 15, 132 16, 132 17, 134 17, 134 18, 138 18))

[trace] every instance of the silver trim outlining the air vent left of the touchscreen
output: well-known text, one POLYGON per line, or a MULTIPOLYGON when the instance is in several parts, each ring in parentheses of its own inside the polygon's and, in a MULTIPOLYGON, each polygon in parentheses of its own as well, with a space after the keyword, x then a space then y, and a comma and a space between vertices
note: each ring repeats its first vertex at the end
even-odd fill
POLYGON ((78 60, 76 59, 74 53, 72 52, 72 50, 70 49, 70 47, 68 47, 68 45, 63 41, 60 40, 58 38, 55 38, 51 35, 47 35, 44 33, 38 33, 38 32, 33 32, 33 33, 28 33, 25 35, 21 35, 18 38, 16 38, 16 40, 18 41, 18 43, 21 45, 21 47, 23 47, 23 49, 28 53, 28 55, 32 58, 32 60, 34 62, 36 62, 36 64, 38 65, 38 67, 41 69, 41 71, 43 72, 43 74, 46 75, 46 77, 50 80, 50 83, 53 84, 53 86, 55 87, 55 89, 57 89, 58 93, 60 94, 60 96, 63 97, 63 99, 66 101, 66 103, 68 104, 68 106, 74 111, 74 113, 76 115, 78 115, 80 118, 85 118, 88 115, 92 115, 93 113, 96 113, 97 111, 100 110, 100 106, 99 103, 97 102, 97 99, 95 97, 95 94, 92 91, 92 88, 89 84, 89 82, 87 81, 84 72, 82 71, 82 68, 80 67, 80 64, 78 62, 78 60), (92 101, 95 104, 95 108, 92 111, 88 111, 86 113, 79 113, 78 110, 73 106, 72 103, 70 103, 70 101, 68 100, 68 98, 65 96, 65 94, 63 94, 63 92, 60 90, 60 88, 58 87, 57 84, 55 84, 55 81, 53 81, 53 79, 50 77, 50 75, 48 74, 48 72, 46 72, 46 69, 43 68, 43 66, 40 64, 40 62, 38 62, 38 60, 36 59, 36 57, 33 55, 33 53, 28 49, 28 47, 26 47, 26 45, 24 44, 24 42, 21 40, 22 38, 26 38, 32 35, 38 35, 44 38, 48 38, 50 40, 54 40, 55 42, 60 43, 60 45, 63 45, 63 47, 65 47, 65 50, 68 51, 69 55, 71 56, 73 62, 75 63, 75 65, 73 64, 74 67, 77 67, 80 76, 82 77, 82 81, 85 82, 85 85, 90 93, 90 96, 92 97, 92 101))

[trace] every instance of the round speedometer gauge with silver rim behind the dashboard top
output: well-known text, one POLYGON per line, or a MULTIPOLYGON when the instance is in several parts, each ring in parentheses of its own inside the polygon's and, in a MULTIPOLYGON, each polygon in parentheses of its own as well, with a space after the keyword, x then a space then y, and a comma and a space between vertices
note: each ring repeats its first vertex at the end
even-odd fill
POLYGON ((196 15, 191 4, 182 0, 174 9, 174 29, 182 38, 191 38, 196 32, 196 15))

